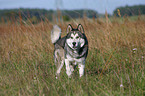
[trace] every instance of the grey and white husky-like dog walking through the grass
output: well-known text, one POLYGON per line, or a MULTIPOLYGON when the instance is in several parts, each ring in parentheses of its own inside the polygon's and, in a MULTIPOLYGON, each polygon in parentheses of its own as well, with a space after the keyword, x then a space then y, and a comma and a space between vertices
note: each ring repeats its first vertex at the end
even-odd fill
POLYGON ((54 44, 54 62, 57 66, 56 78, 59 76, 64 63, 66 74, 71 77, 76 65, 79 68, 79 76, 84 75, 85 60, 88 54, 88 40, 81 24, 74 29, 70 24, 67 27, 67 35, 61 38, 61 29, 57 25, 51 31, 51 41, 54 44))

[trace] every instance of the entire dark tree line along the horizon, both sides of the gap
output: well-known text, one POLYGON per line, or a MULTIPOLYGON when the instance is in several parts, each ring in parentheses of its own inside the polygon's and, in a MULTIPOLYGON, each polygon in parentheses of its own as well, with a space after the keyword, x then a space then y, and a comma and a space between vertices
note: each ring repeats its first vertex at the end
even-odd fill
MULTIPOLYGON (((138 6, 125 6, 118 7, 114 10, 113 16, 134 16, 145 14, 145 5, 138 6)), ((94 10, 46 10, 46 9, 3 9, 0 10, 0 22, 7 22, 8 20, 18 21, 22 19, 24 21, 31 21, 32 23, 38 23, 40 21, 49 20, 60 17, 64 21, 69 21, 71 18, 82 18, 87 16, 88 18, 103 17, 104 15, 98 14, 94 10)), ((110 15, 108 15, 110 17, 110 15)))

